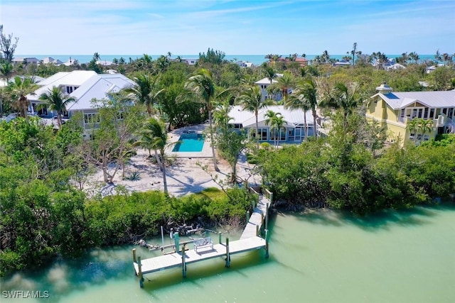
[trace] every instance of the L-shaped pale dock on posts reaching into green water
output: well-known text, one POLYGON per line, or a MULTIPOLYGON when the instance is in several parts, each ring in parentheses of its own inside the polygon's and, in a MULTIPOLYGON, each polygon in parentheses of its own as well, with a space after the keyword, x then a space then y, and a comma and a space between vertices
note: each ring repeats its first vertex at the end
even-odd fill
MULTIPOLYGON (((133 249, 133 265, 136 275, 139 276, 139 285, 144 286, 143 275, 151 272, 158 272, 168 268, 181 267, 183 277, 186 277, 186 265, 196 263, 211 258, 225 257, 226 267, 230 266, 230 255, 237 253, 245 253, 250 250, 257 250, 260 248, 265 249, 266 258, 269 257, 269 243, 267 240, 267 221, 268 221, 268 208, 273 199, 273 195, 269 193, 270 199, 263 194, 257 194, 258 201, 253 204, 253 213, 250 216, 247 213, 247 226, 237 241, 229 241, 225 239, 225 243, 221 242, 219 237, 218 244, 213 243, 212 246, 198 248, 198 251, 193 249, 195 244, 191 243, 178 243, 176 241, 176 252, 159 255, 154 258, 147 258, 141 260, 141 257, 136 258, 136 249, 133 249), (264 237, 260 233, 264 230, 264 237), (189 247, 188 247, 189 246, 189 247), (189 248, 189 249, 188 249, 189 248)), ((178 236, 177 236, 178 238, 178 236)))

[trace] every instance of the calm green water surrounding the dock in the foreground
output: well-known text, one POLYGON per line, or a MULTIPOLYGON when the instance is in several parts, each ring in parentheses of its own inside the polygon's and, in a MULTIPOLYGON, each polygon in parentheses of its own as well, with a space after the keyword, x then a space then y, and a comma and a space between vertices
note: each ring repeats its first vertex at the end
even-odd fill
POLYGON ((271 227, 268 260, 263 250, 232 255, 228 269, 221 258, 208 260, 188 265, 185 279, 178 268, 146 275, 140 289, 133 246, 93 250, 4 278, 0 301, 455 302, 454 204, 368 220, 326 210, 277 214, 271 227), (5 299, 6 290, 47 290, 49 298, 5 299))

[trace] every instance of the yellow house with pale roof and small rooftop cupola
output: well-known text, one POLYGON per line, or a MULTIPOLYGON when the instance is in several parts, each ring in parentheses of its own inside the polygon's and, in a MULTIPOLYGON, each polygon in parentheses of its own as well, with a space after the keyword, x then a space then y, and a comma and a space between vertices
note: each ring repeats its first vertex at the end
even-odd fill
POLYGON ((387 127, 390 142, 419 144, 438 133, 455 133, 455 91, 392 92, 385 82, 376 90, 378 93, 365 101, 365 116, 387 127), (424 123, 427 127, 422 123, 412 127, 414 119, 432 122, 424 123))

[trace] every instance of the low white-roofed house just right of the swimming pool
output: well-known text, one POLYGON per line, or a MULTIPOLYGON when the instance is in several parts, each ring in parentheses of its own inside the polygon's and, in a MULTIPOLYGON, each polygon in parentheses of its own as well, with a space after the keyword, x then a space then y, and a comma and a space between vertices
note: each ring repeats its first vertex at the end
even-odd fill
MULTIPOLYGON (((243 129, 249 137, 256 137, 256 117, 254 113, 244 111, 242 106, 232 106, 229 116, 232 118, 229 121, 230 128, 234 130, 243 129)), ((259 142, 301 143, 301 141, 304 141, 305 134, 314 136, 314 119, 311 111, 304 113, 301 109, 285 109, 282 105, 267 106, 259 110, 257 121, 257 138, 259 142), (279 130, 267 125, 267 116, 265 114, 269 110, 281 114, 284 121, 286 121, 279 130)))

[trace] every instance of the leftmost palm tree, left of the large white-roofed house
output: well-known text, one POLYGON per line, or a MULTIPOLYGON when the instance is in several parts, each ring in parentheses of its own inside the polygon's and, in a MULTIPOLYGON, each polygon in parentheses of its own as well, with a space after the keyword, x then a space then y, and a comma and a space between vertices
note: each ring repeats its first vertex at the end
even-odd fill
POLYGON ((30 103, 27 99, 27 94, 34 95, 33 92, 38 88, 38 85, 33 81, 33 77, 26 77, 22 79, 21 77, 15 77, 13 82, 9 82, 6 86, 6 94, 11 97, 11 99, 16 99, 13 102, 13 107, 17 109, 21 116, 23 116, 26 121, 28 121, 27 109, 30 106, 30 103))

